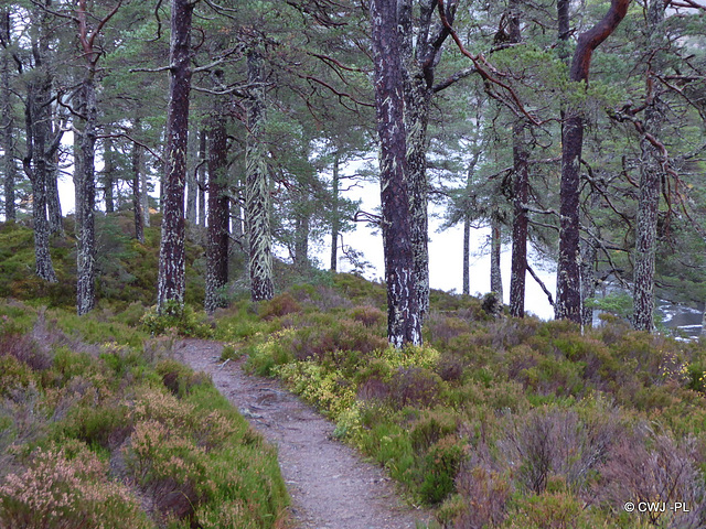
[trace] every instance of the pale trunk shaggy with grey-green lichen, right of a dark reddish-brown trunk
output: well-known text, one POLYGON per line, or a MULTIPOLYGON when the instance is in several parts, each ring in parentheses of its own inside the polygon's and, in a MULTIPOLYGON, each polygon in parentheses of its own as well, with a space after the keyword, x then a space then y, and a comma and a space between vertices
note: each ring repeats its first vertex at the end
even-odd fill
POLYGON ((270 197, 267 160, 261 138, 265 89, 263 57, 256 51, 247 55, 248 82, 253 85, 247 101, 245 218, 248 235, 250 296, 253 301, 270 300, 272 284, 272 236, 270 231, 270 197))

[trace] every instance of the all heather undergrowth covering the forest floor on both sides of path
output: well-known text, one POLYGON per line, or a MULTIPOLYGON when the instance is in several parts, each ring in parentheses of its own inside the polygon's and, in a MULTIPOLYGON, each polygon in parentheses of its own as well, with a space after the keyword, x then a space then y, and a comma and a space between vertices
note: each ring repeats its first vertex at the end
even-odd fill
POLYGON ((196 246, 186 305, 158 314, 157 230, 140 245, 116 236, 119 215, 100 223, 116 259, 99 264, 88 317, 64 309, 73 245, 53 241, 61 280, 47 285, 30 273, 29 229, 0 228, 0 296, 32 305, 0 303, 0 527, 281 523, 272 450, 173 360, 180 335, 226 342, 223 361, 247 355, 280 377, 440 527, 706 526, 704 343, 613 316, 585 333, 494 317, 435 291, 425 346, 397 350, 384 287, 324 272, 255 304, 236 281, 231 306, 205 316, 196 246))

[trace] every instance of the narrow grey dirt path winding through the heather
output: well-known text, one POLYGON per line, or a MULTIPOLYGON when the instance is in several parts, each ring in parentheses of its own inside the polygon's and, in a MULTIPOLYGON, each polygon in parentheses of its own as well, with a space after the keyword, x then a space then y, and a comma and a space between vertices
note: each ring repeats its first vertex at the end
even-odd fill
POLYGON ((427 518, 400 505, 381 468, 332 440, 332 423, 277 380, 245 375, 243 359, 221 367, 221 350, 217 343, 189 339, 179 355, 193 369, 210 374, 218 390, 278 446, 297 528, 414 529, 415 520, 427 518))

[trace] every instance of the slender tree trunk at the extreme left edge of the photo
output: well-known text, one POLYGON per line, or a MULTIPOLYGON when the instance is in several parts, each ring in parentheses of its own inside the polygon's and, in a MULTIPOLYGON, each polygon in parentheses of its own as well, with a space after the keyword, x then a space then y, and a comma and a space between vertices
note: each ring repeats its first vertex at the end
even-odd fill
MULTIPOLYGON (((6 42, 10 42, 10 11, 0 11, 0 32, 6 42)), ((4 219, 14 222, 17 212, 14 207, 14 181, 17 179, 17 166, 14 164, 14 149, 12 141, 13 119, 12 100, 10 99, 10 53, 7 50, 0 51, 0 147, 2 148, 2 169, 4 172, 4 219)))

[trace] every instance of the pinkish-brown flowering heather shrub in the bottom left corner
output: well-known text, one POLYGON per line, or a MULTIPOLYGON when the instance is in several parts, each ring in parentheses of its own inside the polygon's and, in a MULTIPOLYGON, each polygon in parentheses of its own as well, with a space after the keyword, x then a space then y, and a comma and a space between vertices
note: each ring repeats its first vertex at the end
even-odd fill
POLYGON ((151 528, 137 498, 77 442, 39 449, 0 486, 0 525, 28 529, 151 528))

